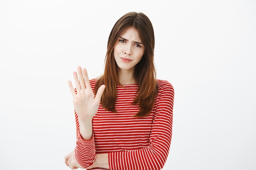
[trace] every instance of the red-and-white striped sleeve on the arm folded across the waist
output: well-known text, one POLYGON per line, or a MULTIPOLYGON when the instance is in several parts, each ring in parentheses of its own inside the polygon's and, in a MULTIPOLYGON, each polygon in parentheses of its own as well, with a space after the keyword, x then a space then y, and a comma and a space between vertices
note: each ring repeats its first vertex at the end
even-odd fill
POLYGON ((173 100, 173 86, 167 81, 159 82, 149 145, 138 150, 110 152, 108 155, 110 170, 160 170, 163 168, 171 145, 173 100))

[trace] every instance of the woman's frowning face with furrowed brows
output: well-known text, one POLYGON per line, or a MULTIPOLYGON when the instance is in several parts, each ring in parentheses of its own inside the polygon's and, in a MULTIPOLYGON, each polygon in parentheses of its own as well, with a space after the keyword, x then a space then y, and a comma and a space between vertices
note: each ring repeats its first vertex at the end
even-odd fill
POLYGON ((114 45, 114 57, 119 71, 133 72, 144 51, 145 46, 141 43, 138 31, 133 27, 126 28, 114 45))

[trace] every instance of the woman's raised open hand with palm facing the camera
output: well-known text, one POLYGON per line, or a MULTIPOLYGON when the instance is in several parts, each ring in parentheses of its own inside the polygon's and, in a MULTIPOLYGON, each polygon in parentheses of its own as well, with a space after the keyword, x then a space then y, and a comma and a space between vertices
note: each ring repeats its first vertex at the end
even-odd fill
POLYGON ((92 120, 92 117, 97 113, 105 85, 101 85, 97 94, 94 96, 86 69, 83 68, 82 70, 82 68, 78 66, 77 73, 73 73, 76 91, 71 81, 68 81, 68 85, 72 93, 74 108, 80 123, 80 121, 92 120))

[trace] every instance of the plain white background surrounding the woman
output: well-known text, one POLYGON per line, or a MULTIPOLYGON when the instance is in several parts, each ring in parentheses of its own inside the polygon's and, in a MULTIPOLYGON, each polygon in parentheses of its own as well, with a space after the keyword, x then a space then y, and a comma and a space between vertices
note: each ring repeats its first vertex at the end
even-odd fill
POLYGON ((117 19, 155 29, 157 78, 175 88, 164 170, 256 170, 255 0, 1 0, 0 169, 68 170, 75 120, 67 81, 103 72, 117 19))

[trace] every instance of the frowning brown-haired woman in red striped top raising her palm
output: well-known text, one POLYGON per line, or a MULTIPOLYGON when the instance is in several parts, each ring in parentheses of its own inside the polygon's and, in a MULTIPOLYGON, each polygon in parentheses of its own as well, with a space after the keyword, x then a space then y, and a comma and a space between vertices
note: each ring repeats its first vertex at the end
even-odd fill
POLYGON ((153 26, 130 12, 112 28, 105 70, 88 79, 85 68, 69 81, 76 118, 71 169, 160 170, 172 136, 173 86, 156 79, 153 26))

